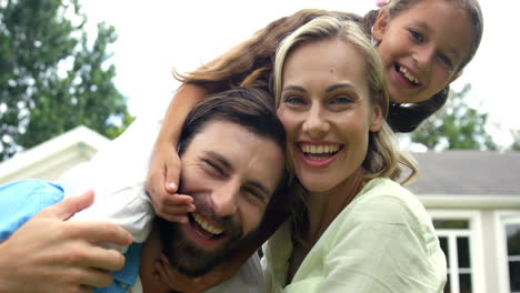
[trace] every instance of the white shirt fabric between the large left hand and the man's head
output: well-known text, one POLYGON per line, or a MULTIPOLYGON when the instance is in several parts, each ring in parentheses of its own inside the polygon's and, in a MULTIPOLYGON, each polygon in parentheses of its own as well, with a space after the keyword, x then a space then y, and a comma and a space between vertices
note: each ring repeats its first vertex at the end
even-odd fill
MULTIPOLYGON (((151 230, 153 208, 144 191, 152 148, 161 120, 136 119, 116 140, 86 163, 59 180, 66 196, 94 191, 94 202, 76 213, 72 221, 108 221, 128 230, 142 242, 151 230)), ((126 247, 114 247, 124 252, 126 247)))

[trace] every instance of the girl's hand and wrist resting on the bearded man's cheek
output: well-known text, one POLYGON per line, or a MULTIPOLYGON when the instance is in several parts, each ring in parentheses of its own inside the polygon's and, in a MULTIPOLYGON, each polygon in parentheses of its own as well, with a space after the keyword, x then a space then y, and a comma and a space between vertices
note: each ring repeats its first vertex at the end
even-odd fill
POLYGON ((177 193, 181 163, 172 143, 158 142, 146 183, 156 213, 170 221, 187 223, 187 213, 194 211, 190 195, 177 193))

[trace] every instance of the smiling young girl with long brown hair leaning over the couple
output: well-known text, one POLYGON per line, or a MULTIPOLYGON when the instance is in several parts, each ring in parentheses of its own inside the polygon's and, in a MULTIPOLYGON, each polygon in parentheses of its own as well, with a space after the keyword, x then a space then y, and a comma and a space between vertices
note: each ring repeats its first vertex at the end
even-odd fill
POLYGON ((208 93, 247 79, 269 88, 279 42, 320 16, 361 23, 384 64, 391 105, 390 127, 413 131, 446 102, 449 84, 473 58, 482 37, 482 13, 477 0, 392 0, 363 18, 324 10, 301 10, 279 19, 207 67, 180 75, 184 84, 172 100, 156 141, 147 191, 156 212, 171 221, 186 221, 190 196, 176 194, 179 178, 179 128, 189 109, 208 93))

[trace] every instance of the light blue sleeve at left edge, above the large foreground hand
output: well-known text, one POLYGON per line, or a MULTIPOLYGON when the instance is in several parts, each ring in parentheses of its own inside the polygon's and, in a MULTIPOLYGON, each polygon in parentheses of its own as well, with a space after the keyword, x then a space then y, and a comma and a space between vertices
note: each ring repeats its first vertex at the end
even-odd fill
POLYGON ((29 179, 0 186, 0 242, 49 205, 63 200, 63 190, 51 182, 29 179))

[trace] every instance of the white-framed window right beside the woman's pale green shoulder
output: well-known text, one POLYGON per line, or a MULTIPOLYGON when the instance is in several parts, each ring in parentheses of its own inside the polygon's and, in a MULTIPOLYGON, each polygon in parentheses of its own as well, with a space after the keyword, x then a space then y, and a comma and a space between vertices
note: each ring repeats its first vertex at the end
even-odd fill
POLYGON ((469 220, 434 220, 448 263, 444 293, 472 293, 471 230, 469 220))

